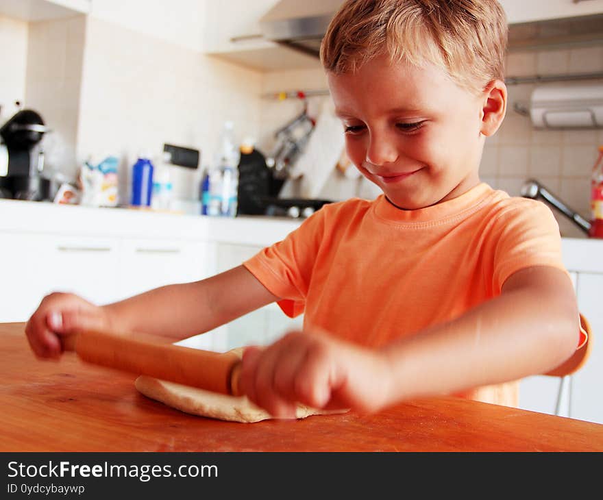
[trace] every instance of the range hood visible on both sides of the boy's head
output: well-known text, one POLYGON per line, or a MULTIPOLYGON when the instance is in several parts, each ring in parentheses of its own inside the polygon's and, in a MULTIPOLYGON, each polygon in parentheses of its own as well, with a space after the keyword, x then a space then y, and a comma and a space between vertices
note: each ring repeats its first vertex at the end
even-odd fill
MULTIPOLYGON (((260 18, 262 36, 319 57, 326 29, 343 0, 280 0, 260 18)), ((603 43, 603 14, 509 25, 509 51, 560 49, 603 43)))

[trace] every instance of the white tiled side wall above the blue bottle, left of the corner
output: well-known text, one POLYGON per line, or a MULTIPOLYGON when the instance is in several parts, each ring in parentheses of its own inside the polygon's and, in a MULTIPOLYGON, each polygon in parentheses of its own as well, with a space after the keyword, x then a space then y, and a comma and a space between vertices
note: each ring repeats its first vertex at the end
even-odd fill
MULTIPOLYGON (((261 75, 120 25, 89 18, 79 113, 78 155, 124 158, 120 195, 141 149, 164 142, 201 150, 211 161, 223 122, 235 134, 260 134, 261 75)), ((175 195, 196 200, 200 171, 172 168, 175 195)))

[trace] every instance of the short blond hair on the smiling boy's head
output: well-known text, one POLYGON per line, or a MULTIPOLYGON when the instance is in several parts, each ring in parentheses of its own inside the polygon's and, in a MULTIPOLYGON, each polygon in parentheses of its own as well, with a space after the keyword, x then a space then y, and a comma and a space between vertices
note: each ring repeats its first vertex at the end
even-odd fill
POLYGON ((378 55, 432 63, 481 92, 504 78, 507 23, 496 0, 346 0, 321 44, 332 73, 354 72, 378 55))

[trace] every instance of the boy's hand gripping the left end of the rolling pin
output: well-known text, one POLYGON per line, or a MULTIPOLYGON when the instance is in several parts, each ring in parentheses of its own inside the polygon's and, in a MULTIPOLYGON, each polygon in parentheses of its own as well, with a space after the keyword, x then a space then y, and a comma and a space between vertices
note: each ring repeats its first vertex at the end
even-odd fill
POLYGON ((71 293, 51 293, 42 299, 25 326, 29 346, 38 358, 58 359, 65 340, 82 329, 110 328, 106 311, 71 293))

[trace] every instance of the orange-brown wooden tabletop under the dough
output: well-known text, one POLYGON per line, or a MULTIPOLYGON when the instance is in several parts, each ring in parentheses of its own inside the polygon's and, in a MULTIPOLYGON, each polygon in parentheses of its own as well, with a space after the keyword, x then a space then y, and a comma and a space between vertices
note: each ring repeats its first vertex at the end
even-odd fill
POLYGON ((71 353, 37 360, 23 327, 0 324, 0 451, 603 451, 603 425, 452 397, 371 415, 201 418, 71 353))

